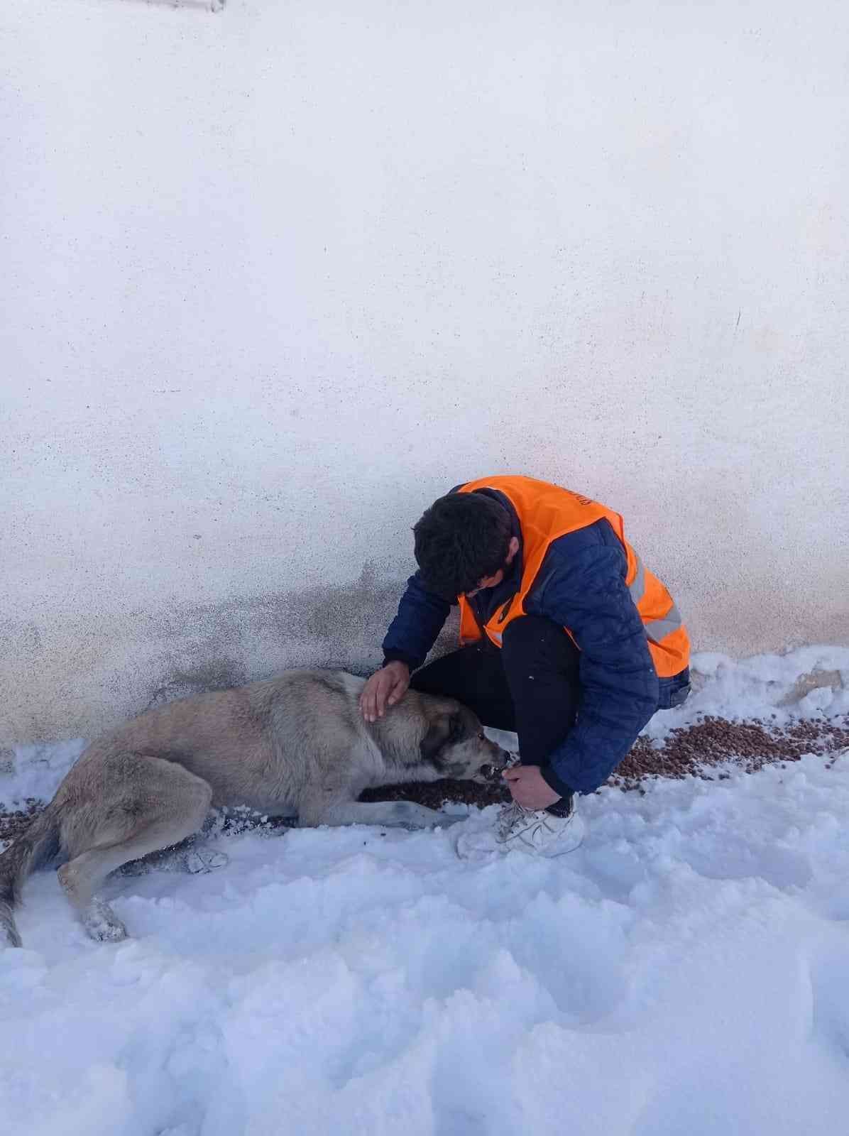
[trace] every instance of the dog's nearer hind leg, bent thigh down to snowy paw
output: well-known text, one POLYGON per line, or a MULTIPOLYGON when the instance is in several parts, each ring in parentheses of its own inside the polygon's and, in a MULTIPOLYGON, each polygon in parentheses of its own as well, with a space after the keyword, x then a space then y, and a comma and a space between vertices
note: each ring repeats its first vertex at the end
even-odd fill
POLYGON ((72 858, 58 875, 89 935, 117 942, 127 930, 95 895, 98 888, 128 860, 196 833, 209 811, 212 790, 182 766, 159 758, 121 754, 103 762, 98 772, 100 800, 94 797, 85 811, 69 818, 62 843, 72 858))

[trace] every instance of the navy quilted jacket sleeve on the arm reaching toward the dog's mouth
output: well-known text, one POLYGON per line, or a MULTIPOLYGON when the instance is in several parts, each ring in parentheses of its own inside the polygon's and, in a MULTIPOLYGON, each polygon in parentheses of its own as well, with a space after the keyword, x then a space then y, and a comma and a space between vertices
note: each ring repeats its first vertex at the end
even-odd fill
POLYGON ((541 768, 561 794, 603 785, 657 709, 657 673, 625 571, 604 521, 556 541, 528 596, 526 609, 569 627, 581 652, 578 721, 541 768))

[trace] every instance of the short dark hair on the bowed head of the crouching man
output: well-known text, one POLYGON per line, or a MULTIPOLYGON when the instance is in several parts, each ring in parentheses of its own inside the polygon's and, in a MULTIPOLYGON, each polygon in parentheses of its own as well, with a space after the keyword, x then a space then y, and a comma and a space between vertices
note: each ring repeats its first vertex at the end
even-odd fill
POLYGON ((422 584, 455 600, 504 567, 512 525, 507 510, 481 493, 439 498, 413 526, 422 584))

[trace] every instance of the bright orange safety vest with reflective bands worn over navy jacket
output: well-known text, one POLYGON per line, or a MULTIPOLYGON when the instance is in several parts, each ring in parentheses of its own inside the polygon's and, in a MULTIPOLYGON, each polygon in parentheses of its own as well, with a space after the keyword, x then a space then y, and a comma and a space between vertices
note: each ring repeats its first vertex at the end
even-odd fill
MULTIPOLYGON (((637 605, 637 611, 646 628, 648 649, 659 678, 678 675, 690 660, 690 641, 681 621, 681 616, 670 593, 661 580, 642 563, 625 540, 624 523, 597 501, 573 493, 571 490, 538 482, 532 477, 481 477, 461 485, 457 493, 474 490, 497 490, 503 493, 516 511, 522 529, 522 579, 519 591, 482 627, 496 646, 502 645, 502 635, 514 619, 526 615, 524 601, 533 586, 537 573, 553 541, 574 533, 579 528, 594 525, 597 520, 610 521, 613 532, 622 542, 628 557, 625 584, 637 605)), ((570 637, 572 633, 566 627, 570 637)), ((460 596, 460 640, 471 643, 481 636, 481 626, 464 595, 460 596)))

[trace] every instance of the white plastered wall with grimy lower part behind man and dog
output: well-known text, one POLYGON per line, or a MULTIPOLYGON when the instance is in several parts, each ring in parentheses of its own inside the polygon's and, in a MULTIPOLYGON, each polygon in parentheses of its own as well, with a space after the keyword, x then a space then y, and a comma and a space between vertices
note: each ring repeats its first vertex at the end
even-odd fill
POLYGON ((0 741, 377 659, 527 471, 849 641, 843 0, 7 0, 0 741))

